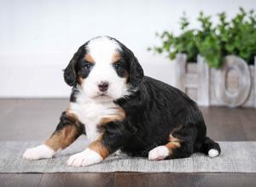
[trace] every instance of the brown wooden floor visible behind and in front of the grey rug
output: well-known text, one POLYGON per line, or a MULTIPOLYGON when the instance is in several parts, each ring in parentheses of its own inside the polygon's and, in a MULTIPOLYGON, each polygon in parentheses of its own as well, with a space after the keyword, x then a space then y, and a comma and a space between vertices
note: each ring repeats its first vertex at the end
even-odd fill
MULTIPOLYGON (((44 140, 67 99, 0 99, 0 140, 44 140)), ((212 139, 255 141, 256 110, 201 107, 212 139)), ((80 139, 84 139, 81 137, 80 139)), ((256 173, 0 173, 0 186, 256 186, 256 173)))

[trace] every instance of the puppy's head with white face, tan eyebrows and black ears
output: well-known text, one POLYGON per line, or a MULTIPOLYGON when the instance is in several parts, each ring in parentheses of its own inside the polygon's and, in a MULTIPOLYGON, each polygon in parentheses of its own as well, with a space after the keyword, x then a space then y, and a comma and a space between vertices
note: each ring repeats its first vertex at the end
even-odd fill
POLYGON ((65 82, 91 99, 119 99, 143 79, 143 68, 129 48, 112 37, 84 43, 64 70, 65 82))

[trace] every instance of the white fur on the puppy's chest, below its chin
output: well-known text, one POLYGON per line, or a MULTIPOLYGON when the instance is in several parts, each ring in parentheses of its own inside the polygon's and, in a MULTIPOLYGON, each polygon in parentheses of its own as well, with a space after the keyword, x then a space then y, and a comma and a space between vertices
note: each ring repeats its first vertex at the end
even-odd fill
POLYGON ((115 115, 119 110, 118 105, 111 102, 95 102, 93 100, 86 102, 71 103, 70 111, 79 117, 79 121, 84 123, 86 136, 91 141, 97 139, 100 135, 97 125, 104 117, 115 115))

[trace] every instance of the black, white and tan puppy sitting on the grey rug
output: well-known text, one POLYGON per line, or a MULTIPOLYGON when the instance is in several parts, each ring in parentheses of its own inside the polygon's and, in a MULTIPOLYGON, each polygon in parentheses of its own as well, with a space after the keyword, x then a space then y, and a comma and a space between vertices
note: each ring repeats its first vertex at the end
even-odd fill
POLYGON ((61 122, 26 159, 51 158, 82 133, 90 145, 70 156, 69 166, 96 164, 116 150, 159 161, 194 152, 214 157, 219 145, 206 136, 201 111, 177 88, 145 77, 129 48, 112 37, 95 37, 73 55, 64 71, 73 87, 61 122))

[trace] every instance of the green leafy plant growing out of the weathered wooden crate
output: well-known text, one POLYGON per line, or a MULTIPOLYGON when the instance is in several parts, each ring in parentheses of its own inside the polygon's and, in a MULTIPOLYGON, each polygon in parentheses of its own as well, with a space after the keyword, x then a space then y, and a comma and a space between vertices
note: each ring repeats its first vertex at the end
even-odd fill
POLYGON ((206 58, 209 66, 218 68, 227 54, 239 55, 248 63, 253 63, 256 56, 256 15, 253 10, 239 8, 231 19, 222 12, 217 15, 217 24, 212 24, 212 16, 203 12, 197 18, 200 28, 189 29, 186 14, 180 18, 181 34, 175 36, 172 31, 156 33, 160 46, 148 48, 159 54, 165 53, 174 59, 177 53, 188 55, 189 61, 194 61, 197 54, 206 58))

